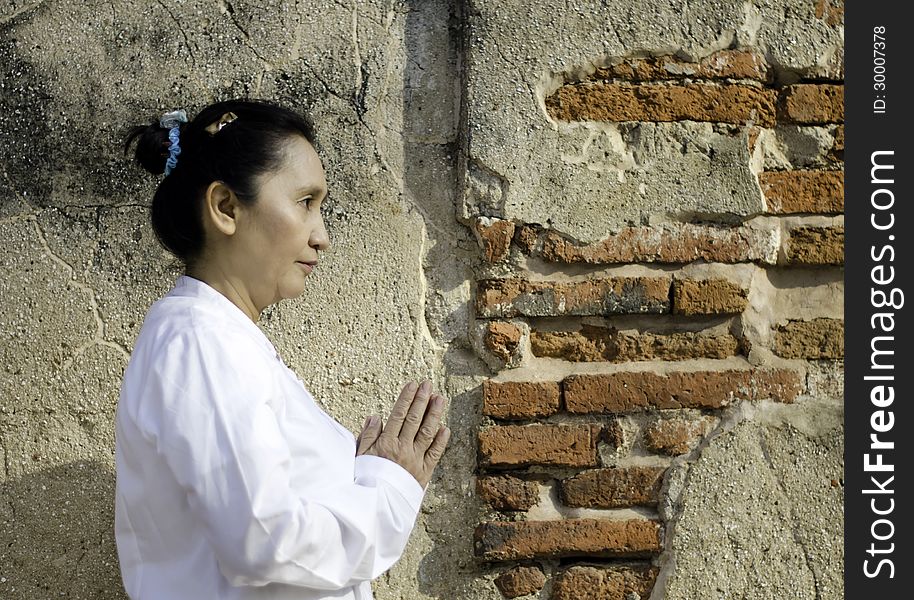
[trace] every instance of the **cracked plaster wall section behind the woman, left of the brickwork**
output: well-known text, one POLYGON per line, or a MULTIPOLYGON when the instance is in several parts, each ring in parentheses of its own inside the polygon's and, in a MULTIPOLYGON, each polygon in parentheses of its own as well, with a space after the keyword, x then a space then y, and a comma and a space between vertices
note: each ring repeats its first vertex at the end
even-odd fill
MULTIPOLYGON (((157 178, 120 142, 166 110, 251 95, 309 111, 332 247, 263 327, 353 431, 421 378, 471 430, 475 384, 443 367, 475 360, 452 343, 469 276, 444 268, 473 248, 453 218, 456 32, 444 2, 0 0, 0 597, 124 597, 114 411, 145 311, 181 271, 148 224, 157 178)), ((470 469, 461 437, 447 471, 470 469)), ((457 529, 435 511, 461 485, 433 482, 376 597, 434 594, 432 536, 457 529)))

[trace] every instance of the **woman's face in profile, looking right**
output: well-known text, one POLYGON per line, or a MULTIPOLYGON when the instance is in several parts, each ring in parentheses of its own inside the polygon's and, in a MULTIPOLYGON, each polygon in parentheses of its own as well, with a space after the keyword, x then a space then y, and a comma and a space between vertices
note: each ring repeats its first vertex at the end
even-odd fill
MULTIPOLYGON (((260 193, 239 223, 236 254, 244 261, 243 278, 259 309, 305 289, 305 277, 318 251, 330 247, 321 216, 327 180, 320 158, 302 136, 289 138, 281 167, 262 175, 260 193)), ((239 265, 241 266, 241 265, 239 265)))

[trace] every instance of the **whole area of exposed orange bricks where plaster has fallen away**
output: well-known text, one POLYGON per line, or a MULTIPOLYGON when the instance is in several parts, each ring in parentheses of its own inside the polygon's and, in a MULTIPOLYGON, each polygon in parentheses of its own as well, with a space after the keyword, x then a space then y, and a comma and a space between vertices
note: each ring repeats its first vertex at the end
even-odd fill
POLYGON ((752 50, 610 62, 547 96, 550 116, 719 124, 745 139, 766 210, 588 245, 476 219, 483 259, 505 268, 475 284, 479 352, 496 372, 482 386, 474 543, 507 598, 648 597, 670 543, 669 466, 694 460, 728 407, 794 402, 807 361, 843 358, 841 310, 795 310, 828 283, 777 285, 840 278, 842 82, 778 83, 752 50), (804 132, 831 143, 785 151, 804 132))

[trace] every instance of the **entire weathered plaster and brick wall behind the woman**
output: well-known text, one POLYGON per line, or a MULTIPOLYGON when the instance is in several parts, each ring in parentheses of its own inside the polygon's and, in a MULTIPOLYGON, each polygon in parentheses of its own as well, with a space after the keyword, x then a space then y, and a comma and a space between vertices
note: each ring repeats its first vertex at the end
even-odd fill
POLYGON ((842 11, 0 0, 0 597, 124 597, 118 386, 180 269, 119 141, 243 95, 331 185, 287 364, 353 430, 451 399, 377 598, 842 597, 842 11))

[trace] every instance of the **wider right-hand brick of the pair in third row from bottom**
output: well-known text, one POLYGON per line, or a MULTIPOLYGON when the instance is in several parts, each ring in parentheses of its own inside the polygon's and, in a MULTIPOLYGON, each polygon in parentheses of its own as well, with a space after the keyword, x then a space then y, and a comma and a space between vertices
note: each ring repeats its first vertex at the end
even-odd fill
POLYGON ((562 502, 582 508, 654 506, 663 483, 663 467, 592 469, 561 482, 562 502))

